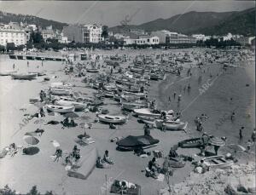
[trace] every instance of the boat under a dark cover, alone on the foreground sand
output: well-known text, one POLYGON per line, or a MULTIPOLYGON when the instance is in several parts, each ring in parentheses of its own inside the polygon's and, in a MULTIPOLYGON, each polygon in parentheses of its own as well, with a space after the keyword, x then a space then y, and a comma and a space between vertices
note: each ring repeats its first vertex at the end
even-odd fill
POLYGON ((140 135, 140 136, 132 136, 129 135, 120 141, 117 141, 116 144, 119 149, 123 150, 134 150, 139 147, 143 147, 143 149, 150 148, 153 146, 157 146, 160 141, 154 139, 150 135, 140 135))

